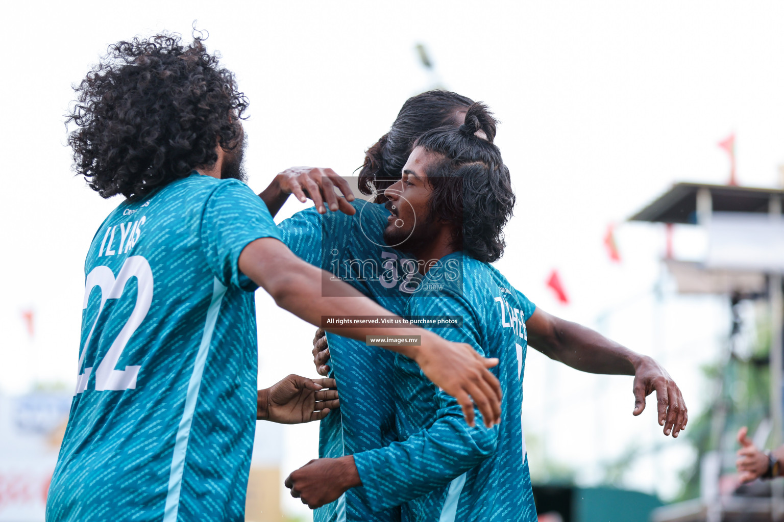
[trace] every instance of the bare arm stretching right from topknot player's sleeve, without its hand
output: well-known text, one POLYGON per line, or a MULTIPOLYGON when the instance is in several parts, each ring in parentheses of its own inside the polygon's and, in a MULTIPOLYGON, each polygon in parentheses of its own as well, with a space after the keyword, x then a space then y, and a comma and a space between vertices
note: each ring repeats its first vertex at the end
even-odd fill
POLYGON ((546 323, 529 319, 526 326, 528 345, 556 361, 582 372, 614 375, 634 375, 637 367, 645 363, 643 355, 601 333, 576 322, 552 319, 546 323))

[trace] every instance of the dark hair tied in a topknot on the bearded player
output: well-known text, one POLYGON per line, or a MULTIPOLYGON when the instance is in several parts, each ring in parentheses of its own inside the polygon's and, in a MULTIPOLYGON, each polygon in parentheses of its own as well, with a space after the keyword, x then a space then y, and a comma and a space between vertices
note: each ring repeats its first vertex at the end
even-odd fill
POLYGON ((459 128, 427 131, 414 142, 441 157, 426 171, 430 220, 455 223, 452 245, 485 263, 503 255, 503 227, 514 208, 509 169, 493 144, 496 123, 483 103, 474 103, 459 128))

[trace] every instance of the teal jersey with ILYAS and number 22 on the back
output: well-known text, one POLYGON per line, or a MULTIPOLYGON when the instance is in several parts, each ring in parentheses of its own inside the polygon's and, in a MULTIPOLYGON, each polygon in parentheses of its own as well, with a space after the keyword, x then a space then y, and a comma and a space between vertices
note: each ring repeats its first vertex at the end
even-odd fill
POLYGON ((103 221, 46 520, 245 520, 258 358, 238 259, 263 237, 280 232, 258 196, 195 172, 103 221))

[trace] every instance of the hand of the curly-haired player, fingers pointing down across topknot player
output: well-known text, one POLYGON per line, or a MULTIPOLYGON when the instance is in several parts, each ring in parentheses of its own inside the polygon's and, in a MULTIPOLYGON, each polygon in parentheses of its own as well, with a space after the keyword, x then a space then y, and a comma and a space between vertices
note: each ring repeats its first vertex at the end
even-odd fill
POLYGON ((412 358, 428 379, 457 399, 469 426, 474 426, 474 405, 486 427, 501 422, 501 385, 488 370, 498 364, 497 358, 484 358, 470 344, 452 343, 430 332, 422 336, 412 358))

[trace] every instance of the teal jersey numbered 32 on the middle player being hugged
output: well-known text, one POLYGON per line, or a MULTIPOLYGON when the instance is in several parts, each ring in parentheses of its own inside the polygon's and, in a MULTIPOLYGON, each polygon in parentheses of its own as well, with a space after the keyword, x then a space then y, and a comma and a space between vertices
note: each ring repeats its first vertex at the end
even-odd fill
MULTIPOLYGON (((279 225, 284 243, 311 265, 343 279, 387 310, 402 314, 419 288, 416 262, 387 247, 383 205, 355 200, 353 216, 318 214, 309 208, 279 225)), ((383 448, 397 440, 392 396, 394 353, 327 333, 332 376, 340 409, 321 420, 319 457, 339 457, 383 448)), ((315 522, 393 522, 399 509, 374 513, 364 488, 354 488, 314 511, 315 522)))

